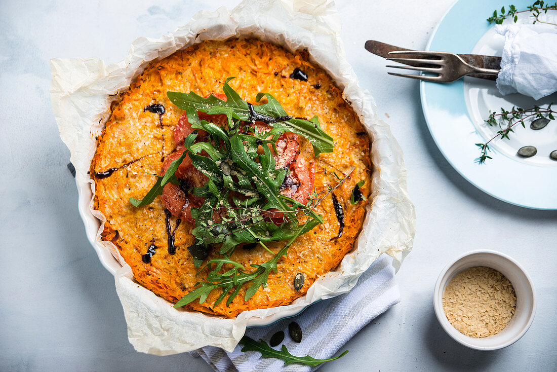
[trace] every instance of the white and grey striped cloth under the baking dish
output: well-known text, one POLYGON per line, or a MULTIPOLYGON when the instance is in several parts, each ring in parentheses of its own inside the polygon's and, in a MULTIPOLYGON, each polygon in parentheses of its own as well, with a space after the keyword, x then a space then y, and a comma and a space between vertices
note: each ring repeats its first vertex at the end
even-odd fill
MULTIPOLYGON (((287 318, 267 327, 249 328, 246 336, 255 341, 262 339, 268 344, 275 332, 284 331, 285 337, 281 345, 286 345, 290 354, 310 355, 317 359, 334 356, 362 327, 400 301, 391 262, 391 258, 382 255, 361 275, 358 284, 350 292, 317 302, 294 318, 287 318), (302 329, 300 344, 290 338, 288 325, 292 321, 298 323, 302 329)), ((281 350, 281 345, 274 349, 281 350)), ((241 350, 242 345, 236 346, 232 352, 206 346, 191 354, 201 356, 218 372, 309 372, 320 366, 297 363, 284 365, 284 361, 280 359, 260 359, 260 352, 241 350)))

